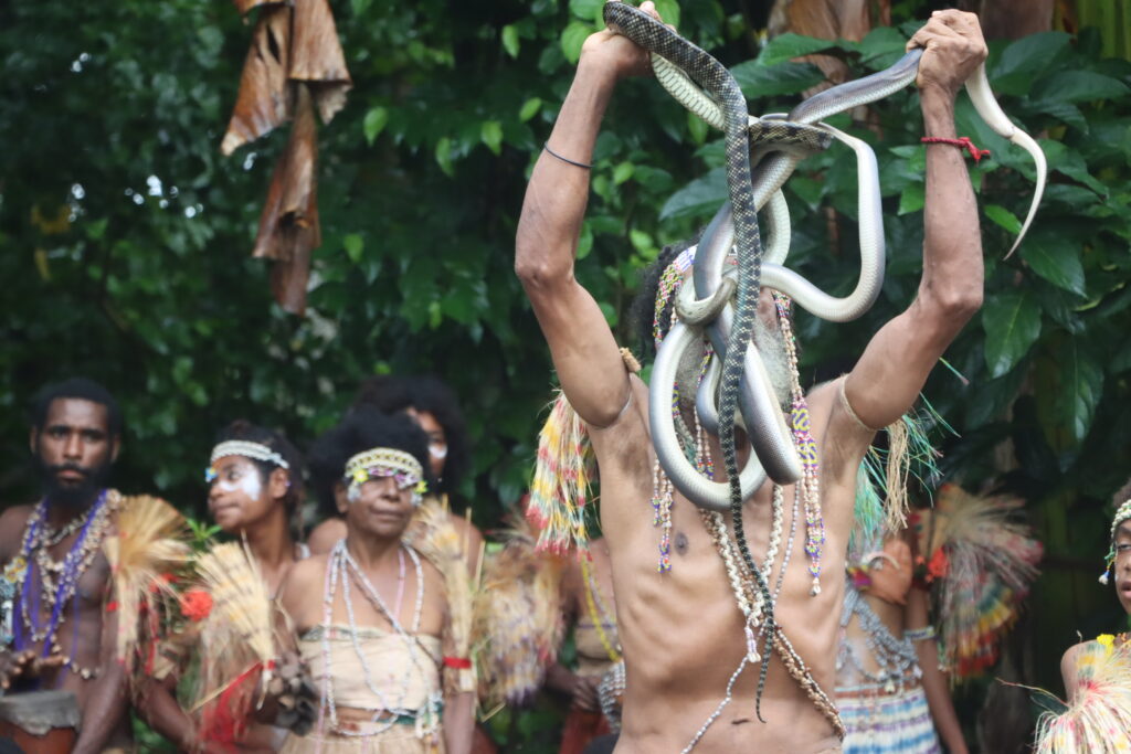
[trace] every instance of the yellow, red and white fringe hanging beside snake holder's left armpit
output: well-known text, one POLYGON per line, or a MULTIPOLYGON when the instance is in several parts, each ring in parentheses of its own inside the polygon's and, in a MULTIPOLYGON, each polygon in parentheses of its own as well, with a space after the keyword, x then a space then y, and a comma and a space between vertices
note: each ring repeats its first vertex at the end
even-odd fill
POLYGON ((538 534, 538 549, 563 553, 589 546, 586 503, 596 468, 585 422, 558 391, 538 433, 538 457, 526 515, 538 534))

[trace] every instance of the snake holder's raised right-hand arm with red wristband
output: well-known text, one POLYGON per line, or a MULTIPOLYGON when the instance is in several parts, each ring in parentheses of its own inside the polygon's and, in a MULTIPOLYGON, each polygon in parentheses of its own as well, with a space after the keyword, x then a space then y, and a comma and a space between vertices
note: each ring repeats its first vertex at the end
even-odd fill
MULTIPOLYGON (((916 79, 924 131, 953 139, 955 95, 986 57, 978 19, 936 11, 912 46, 925 49, 916 79)), ((951 145, 927 145, 918 295, 877 332, 845 382, 849 405, 871 427, 887 426, 910 408, 931 369, 982 305, 982 235, 964 154, 951 145)))

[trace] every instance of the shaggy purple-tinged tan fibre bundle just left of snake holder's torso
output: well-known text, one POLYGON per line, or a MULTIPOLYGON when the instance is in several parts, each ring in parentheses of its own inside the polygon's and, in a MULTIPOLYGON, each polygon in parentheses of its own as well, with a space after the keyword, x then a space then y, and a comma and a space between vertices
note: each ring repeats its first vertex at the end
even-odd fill
POLYGON ((480 695, 492 704, 521 707, 542 686, 546 662, 558 655, 562 557, 538 552, 537 535, 511 518, 506 544, 487 555, 475 603, 480 695))

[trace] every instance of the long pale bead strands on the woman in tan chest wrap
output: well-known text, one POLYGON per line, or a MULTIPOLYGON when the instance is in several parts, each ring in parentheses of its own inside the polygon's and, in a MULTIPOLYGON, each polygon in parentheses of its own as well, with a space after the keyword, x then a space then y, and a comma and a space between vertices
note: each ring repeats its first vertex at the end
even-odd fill
POLYGON ((329 712, 330 729, 336 735, 356 738, 372 738, 373 736, 385 733, 394 725, 397 725, 398 720, 404 718, 415 720, 416 735, 418 737, 434 736, 439 730, 440 707, 442 704, 439 690, 433 690, 429 693, 423 709, 408 709, 405 707, 412 674, 416 671, 422 675, 426 675, 425 664, 421 658, 421 655, 426 655, 426 650, 414 636, 414 634, 420 631, 421 615, 424 607, 424 572, 416 551, 404 543, 402 543, 400 547, 403 551, 408 553, 408 557, 412 560, 413 566, 416 571, 416 604, 413 607, 411 632, 405 630, 405 627, 400 624, 399 616, 390 610, 385 604, 385 600, 381 598, 381 595, 377 591, 373 583, 369 580, 369 577, 365 575, 365 572, 349 554, 345 540, 338 540, 338 543, 334 546, 334 549, 330 551, 330 557, 326 567, 326 584, 322 601, 322 659, 326 673, 322 677, 321 704, 322 709, 329 712), (396 634, 402 639, 405 643, 406 650, 408 651, 412 667, 406 669, 404 676, 400 678, 400 697, 395 702, 390 702, 386 694, 373 682, 372 670, 370 669, 369 662, 365 660, 365 655, 361 649, 361 643, 359 641, 359 626, 356 617, 354 616, 353 596, 349 588, 351 580, 356 581, 361 586, 362 595, 370 601, 370 604, 373 605, 373 607, 377 608, 378 613, 380 613, 381 616, 389 622, 394 632, 396 632, 396 634), (342 598, 346 605, 346 615, 348 616, 349 639, 353 644, 354 653, 361 665, 362 677, 364 678, 365 686, 369 691, 380 701, 379 705, 374 708, 366 708, 368 711, 374 713, 372 722, 377 723, 377 727, 375 729, 365 731, 343 728, 338 723, 337 705, 334 697, 334 679, 329 673, 329 630, 333 625, 334 617, 334 596, 337 593, 337 587, 339 583, 342 586, 342 598))

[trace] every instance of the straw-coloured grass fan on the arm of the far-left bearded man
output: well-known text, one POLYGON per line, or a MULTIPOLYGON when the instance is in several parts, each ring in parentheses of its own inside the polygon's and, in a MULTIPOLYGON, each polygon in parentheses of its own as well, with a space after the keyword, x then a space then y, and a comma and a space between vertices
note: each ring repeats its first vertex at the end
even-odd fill
MULTIPOLYGON (((103 543, 113 574, 118 610, 115 655, 133 677, 139 657, 150 658, 166 627, 170 606, 179 605, 172 582, 189 563, 189 528, 172 505, 158 497, 122 497, 114 535, 103 543)), ((146 661, 149 671, 149 660, 146 661)))

